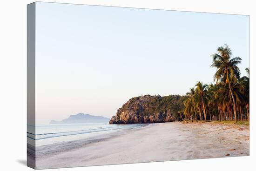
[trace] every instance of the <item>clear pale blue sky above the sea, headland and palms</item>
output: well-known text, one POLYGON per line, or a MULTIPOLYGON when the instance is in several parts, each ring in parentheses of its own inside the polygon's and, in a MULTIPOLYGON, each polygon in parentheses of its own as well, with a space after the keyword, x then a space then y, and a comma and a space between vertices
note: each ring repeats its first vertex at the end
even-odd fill
POLYGON ((36 124, 111 118, 130 98, 213 82, 224 44, 249 67, 249 16, 36 2, 36 124))

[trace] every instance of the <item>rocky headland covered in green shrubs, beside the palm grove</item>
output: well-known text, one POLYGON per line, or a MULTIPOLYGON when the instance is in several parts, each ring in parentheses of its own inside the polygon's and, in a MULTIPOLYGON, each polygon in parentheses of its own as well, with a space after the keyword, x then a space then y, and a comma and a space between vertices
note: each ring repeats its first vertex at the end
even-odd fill
POLYGON ((117 110, 109 124, 138 124, 179 121, 184 108, 185 97, 170 96, 140 96, 129 99, 117 110))

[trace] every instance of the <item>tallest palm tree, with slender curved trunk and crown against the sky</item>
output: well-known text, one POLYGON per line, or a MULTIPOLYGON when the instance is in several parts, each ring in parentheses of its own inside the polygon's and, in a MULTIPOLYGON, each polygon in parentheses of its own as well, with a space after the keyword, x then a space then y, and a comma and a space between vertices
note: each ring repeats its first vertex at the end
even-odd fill
POLYGON ((236 100, 234 94, 231 90, 232 81, 240 79, 240 70, 238 64, 241 63, 241 58, 232 58, 232 52, 229 46, 218 47, 217 53, 213 54, 213 63, 212 67, 216 67, 217 71, 214 75, 214 80, 218 84, 219 80, 222 80, 225 85, 228 85, 229 92, 232 98, 233 111, 236 119, 236 100))

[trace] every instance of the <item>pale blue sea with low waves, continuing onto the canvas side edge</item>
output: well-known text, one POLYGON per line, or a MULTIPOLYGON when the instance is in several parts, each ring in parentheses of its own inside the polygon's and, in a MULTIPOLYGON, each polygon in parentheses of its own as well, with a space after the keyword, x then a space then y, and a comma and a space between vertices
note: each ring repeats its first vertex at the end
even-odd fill
POLYGON ((73 140, 93 139, 114 132, 141 128, 147 125, 110 125, 108 123, 27 125, 27 143, 32 145, 33 140, 35 140, 35 145, 38 147, 73 140))

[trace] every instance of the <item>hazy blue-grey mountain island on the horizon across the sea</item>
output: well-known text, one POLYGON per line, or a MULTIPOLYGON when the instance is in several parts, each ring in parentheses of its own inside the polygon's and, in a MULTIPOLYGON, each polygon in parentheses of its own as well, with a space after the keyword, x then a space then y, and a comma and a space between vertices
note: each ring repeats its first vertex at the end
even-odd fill
POLYGON ((90 114, 78 113, 76 115, 70 115, 68 118, 61 121, 51 120, 50 124, 79 124, 79 123, 108 123, 109 118, 102 116, 93 116, 90 114))

